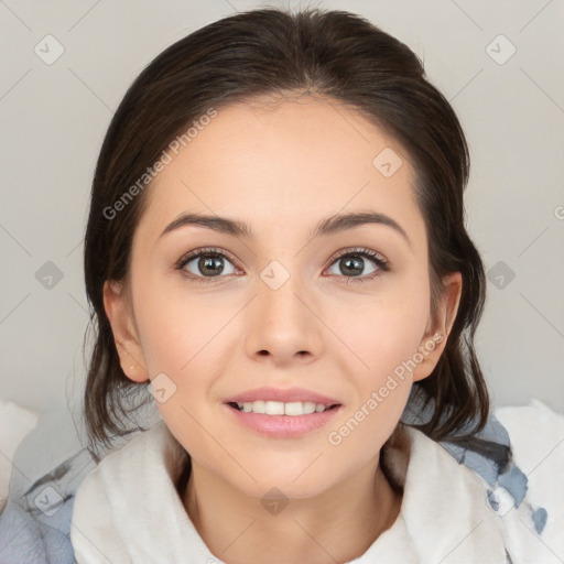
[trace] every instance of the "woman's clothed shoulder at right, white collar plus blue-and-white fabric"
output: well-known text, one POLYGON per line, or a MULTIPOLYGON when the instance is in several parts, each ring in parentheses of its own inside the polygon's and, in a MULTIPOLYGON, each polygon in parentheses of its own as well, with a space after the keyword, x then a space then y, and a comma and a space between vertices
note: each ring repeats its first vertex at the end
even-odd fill
POLYGON ((435 442, 411 426, 405 431, 408 442, 395 437, 386 445, 382 468, 391 467, 404 486, 402 516, 420 554, 443 557, 453 534, 460 534, 468 538, 469 562, 484 546, 496 547, 497 556, 485 554, 489 562, 562 562, 562 415, 535 401, 499 409, 469 443, 482 442, 485 448, 476 451, 435 442), (430 524, 448 534, 437 542, 430 524))

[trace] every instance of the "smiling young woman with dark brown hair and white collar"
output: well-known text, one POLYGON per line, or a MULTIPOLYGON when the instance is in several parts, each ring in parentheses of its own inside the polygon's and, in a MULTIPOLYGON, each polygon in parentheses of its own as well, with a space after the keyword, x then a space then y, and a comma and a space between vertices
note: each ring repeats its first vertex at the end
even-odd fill
POLYGON ((509 467, 476 438, 468 166, 417 57, 347 12, 238 13, 140 74, 93 185, 85 413, 93 448, 162 421, 78 489, 79 564, 541 554, 438 444, 509 467))

